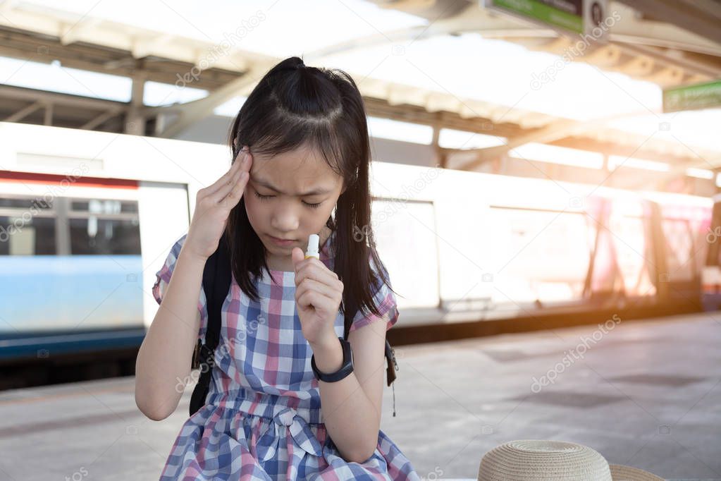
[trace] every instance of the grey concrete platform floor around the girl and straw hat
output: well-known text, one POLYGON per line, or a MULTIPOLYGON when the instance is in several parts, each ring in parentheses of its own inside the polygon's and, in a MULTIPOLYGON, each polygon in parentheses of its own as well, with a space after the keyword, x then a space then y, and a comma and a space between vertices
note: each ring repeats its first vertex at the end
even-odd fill
MULTIPOLYGON (((475 480, 485 452, 521 438, 721 480, 721 313, 609 326, 397 348, 381 429, 428 480, 475 480)), ((189 398, 156 422, 132 377, 0 392, 0 480, 157 479, 189 398)))

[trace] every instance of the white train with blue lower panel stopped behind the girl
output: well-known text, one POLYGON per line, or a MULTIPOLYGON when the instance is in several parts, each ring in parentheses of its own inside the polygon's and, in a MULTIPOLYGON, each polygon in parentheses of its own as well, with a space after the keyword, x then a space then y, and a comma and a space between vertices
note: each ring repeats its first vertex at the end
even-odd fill
MULTIPOLYGON (((229 156, 219 144, 0 123, 0 389, 133 374, 156 272, 229 156)), ((679 301, 716 309, 720 198, 399 161, 371 163, 394 330, 679 301)))

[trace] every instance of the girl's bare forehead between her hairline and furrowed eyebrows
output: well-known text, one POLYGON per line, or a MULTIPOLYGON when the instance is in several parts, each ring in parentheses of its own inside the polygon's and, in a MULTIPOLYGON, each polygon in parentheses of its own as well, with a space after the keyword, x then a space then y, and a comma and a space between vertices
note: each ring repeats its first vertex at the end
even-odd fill
POLYGON ((328 166, 320 151, 302 146, 275 155, 253 154, 250 180, 295 194, 316 187, 335 188, 341 178, 328 166))

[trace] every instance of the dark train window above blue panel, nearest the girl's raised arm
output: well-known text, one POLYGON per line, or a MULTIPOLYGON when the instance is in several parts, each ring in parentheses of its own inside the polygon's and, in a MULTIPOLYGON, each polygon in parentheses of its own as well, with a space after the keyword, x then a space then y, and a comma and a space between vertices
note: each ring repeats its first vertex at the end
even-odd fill
POLYGON ((69 219, 73 255, 140 255, 138 219, 69 219))

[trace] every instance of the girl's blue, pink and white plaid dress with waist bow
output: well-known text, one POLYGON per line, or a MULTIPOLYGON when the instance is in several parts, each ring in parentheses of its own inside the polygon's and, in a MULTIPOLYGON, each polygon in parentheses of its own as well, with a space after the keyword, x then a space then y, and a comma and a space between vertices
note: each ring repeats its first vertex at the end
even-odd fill
MULTIPOLYGON (((186 237, 174 244, 156 273, 153 295, 159 304, 186 237)), ((330 270, 331 244, 329 239, 319 250, 330 270)), ((372 262, 371 268, 376 268, 372 262)), ((346 462, 340 456, 323 423, 294 278, 293 272, 264 270, 255 281, 260 302, 251 301, 232 278, 221 310, 221 338, 206 404, 180 428, 161 480, 420 480, 380 430, 376 451, 365 462, 346 462)), ((393 292, 384 285, 375 299, 384 316, 362 317, 358 312, 350 330, 374 320, 387 322, 389 330, 397 322, 393 292)), ((198 311, 198 337, 203 338, 208 321, 203 288, 198 311)), ((342 337, 340 309, 335 331, 342 337)))

